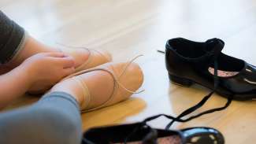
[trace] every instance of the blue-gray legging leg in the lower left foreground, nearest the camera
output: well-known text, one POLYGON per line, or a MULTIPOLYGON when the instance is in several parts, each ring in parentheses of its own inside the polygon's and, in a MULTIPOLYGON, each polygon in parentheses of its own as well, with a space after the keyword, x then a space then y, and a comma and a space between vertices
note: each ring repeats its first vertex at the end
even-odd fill
POLYGON ((80 144, 80 109, 69 94, 54 92, 35 105, 0 114, 0 143, 80 144))

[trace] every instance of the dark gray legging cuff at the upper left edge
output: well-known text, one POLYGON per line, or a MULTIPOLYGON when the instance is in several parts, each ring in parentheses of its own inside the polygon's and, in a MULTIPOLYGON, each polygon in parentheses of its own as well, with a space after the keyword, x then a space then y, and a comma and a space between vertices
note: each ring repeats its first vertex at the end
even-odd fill
POLYGON ((5 64, 24 44, 24 28, 21 28, 13 20, 0 10, 0 64, 5 64))

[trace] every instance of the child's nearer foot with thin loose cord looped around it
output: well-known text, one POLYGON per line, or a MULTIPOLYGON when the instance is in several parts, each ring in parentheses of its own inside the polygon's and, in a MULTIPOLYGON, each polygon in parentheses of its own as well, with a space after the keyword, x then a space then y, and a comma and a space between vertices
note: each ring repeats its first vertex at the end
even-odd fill
POLYGON ((143 72, 139 65, 107 63, 69 76, 50 92, 71 94, 85 112, 128 99, 142 83, 143 72))

